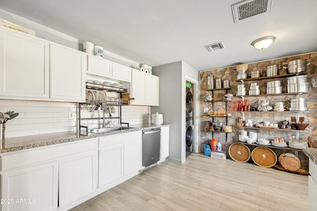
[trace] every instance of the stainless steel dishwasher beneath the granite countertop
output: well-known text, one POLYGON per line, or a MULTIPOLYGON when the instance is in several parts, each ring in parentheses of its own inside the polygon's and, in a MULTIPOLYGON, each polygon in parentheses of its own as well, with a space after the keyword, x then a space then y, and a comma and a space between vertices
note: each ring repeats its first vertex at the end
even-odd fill
POLYGON ((159 161, 160 128, 143 130, 142 166, 148 167, 159 161))

